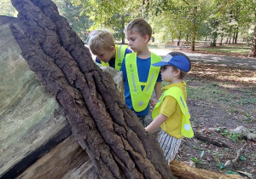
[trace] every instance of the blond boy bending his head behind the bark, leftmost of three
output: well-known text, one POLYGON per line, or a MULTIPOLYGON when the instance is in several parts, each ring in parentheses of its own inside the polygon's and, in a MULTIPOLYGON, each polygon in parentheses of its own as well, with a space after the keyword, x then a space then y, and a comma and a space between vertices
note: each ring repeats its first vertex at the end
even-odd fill
POLYGON ((113 35, 104 30, 90 32, 88 45, 91 53, 96 55, 97 63, 101 63, 102 66, 111 66, 118 71, 125 55, 132 53, 131 49, 127 49, 127 45, 115 44, 113 35))

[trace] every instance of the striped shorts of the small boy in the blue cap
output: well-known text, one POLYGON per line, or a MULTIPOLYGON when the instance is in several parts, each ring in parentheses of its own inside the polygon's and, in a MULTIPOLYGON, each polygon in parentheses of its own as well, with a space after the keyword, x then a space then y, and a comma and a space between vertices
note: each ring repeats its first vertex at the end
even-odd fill
POLYGON ((180 147, 182 138, 177 139, 174 136, 169 136, 164 130, 161 130, 158 136, 158 141, 169 164, 175 158, 177 150, 180 147))

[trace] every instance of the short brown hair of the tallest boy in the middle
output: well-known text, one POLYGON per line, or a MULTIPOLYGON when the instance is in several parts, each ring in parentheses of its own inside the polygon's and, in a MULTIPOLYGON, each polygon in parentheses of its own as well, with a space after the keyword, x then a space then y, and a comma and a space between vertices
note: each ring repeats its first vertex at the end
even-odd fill
POLYGON ((128 30, 131 32, 137 31, 142 36, 148 35, 149 39, 152 36, 151 26, 148 24, 148 22, 146 22, 145 20, 143 20, 141 18, 131 20, 131 22, 129 22, 129 24, 127 26, 125 26, 124 32, 127 32, 128 30))

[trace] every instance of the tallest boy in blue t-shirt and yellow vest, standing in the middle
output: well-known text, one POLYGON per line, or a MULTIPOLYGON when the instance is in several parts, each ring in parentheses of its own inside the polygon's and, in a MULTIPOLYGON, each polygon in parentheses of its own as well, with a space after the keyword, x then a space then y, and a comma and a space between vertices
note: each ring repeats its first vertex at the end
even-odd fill
POLYGON ((125 103, 147 126, 149 100, 155 90, 157 100, 161 95, 160 67, 152 66, 161 57, 150 52, 148 42, 152 35, 151 26, 143 19, 131 20, 125 27, 128 45, 134 53, 127 54, 121 66, 125 84, 125 103))

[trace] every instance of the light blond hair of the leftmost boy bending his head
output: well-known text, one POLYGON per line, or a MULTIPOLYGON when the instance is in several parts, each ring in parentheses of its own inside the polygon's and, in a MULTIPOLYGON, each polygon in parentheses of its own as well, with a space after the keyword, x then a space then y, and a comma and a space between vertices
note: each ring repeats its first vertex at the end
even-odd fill
POLYGON ((90 32, 88 45, 93 54, 98 54, 100 50, 110 50, 114 47, 113 35, 105 30, 96 30, 90 32))

